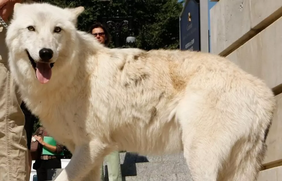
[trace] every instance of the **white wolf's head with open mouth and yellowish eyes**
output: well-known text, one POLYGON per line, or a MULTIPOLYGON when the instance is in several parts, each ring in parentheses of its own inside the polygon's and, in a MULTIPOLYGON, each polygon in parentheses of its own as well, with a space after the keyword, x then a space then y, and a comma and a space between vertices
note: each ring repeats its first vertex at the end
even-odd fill
POLYGON ((83 11, 84 7, 16 3, 6 35, 10 67, 27 78, 48 82, 52 67, 64 66, 75 50, 76 21, 83 11))

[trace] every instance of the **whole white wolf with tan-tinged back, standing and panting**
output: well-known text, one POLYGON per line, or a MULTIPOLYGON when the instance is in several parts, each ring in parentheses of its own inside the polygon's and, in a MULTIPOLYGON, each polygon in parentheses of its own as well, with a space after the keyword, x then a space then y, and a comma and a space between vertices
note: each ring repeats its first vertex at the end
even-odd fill
POLYGON ((256 180, 275 109, 261 80, 217 55, 106 48, 77 31, 83 11, 16 4, 6 37, 22 99, 73 153, 56 180, 99 180, 117 149, 183 150, 194 181, 256 180))

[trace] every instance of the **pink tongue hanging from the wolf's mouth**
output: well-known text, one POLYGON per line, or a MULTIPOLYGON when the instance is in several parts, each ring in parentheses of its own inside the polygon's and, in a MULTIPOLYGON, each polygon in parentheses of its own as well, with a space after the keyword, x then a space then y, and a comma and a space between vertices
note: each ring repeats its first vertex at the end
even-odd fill
POLYGON ((50 63, 36 63, 36 77, 41 84, 47 83, 52 76, 50 63))

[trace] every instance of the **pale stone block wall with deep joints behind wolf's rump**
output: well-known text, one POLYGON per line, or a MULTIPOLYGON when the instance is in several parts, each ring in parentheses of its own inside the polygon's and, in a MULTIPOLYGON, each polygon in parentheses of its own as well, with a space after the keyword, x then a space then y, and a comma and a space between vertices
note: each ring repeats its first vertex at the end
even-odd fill
POLYGON ((210 10, 211 53, 275 90, 277 108, 258 181, 282 181, 282 0, 220 0, 210 10))

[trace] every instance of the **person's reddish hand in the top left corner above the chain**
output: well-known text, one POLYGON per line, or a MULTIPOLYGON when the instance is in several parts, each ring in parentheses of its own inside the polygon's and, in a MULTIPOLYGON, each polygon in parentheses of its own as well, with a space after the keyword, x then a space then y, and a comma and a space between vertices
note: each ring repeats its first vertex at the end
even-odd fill
POLYGON ((0 16, 4 21, 12 15, 14 5, 20 3, 21 0, 0 0, 0 16))

